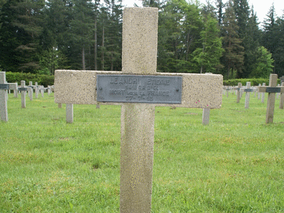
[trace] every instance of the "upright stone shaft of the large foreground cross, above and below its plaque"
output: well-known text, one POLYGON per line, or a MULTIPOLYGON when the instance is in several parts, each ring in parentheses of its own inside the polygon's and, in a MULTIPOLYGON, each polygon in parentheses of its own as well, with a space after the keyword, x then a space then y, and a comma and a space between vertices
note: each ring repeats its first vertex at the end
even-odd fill
MULTIPOLYGON (((122 72, 155 74, 158 9, 126 8, 122 72)), ((120 212, 151 212, 155 105, 121 105, 120 212)))

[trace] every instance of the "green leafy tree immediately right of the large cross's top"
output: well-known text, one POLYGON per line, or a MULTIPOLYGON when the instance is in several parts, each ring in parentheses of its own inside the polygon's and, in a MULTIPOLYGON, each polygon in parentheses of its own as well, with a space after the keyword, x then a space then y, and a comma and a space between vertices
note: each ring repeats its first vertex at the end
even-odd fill
POLYGON ((196 5, 185 0, 167 1, 159 18, 158 70, 199 72, 192 65, 192 53, 200 44, 203 26, 196 5))

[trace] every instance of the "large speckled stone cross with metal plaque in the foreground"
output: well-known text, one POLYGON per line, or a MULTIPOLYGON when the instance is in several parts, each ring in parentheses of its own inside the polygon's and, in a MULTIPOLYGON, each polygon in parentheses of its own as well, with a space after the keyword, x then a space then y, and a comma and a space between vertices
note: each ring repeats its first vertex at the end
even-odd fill
POLYGON ((218 109, 222 75, 158 73, 158 9, 125 8, 122 72, 55 71, 55 103, 121 104, 120 212, 151 212, 155 106, 218 109))

